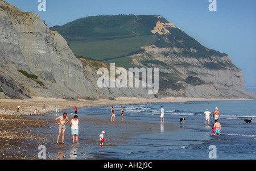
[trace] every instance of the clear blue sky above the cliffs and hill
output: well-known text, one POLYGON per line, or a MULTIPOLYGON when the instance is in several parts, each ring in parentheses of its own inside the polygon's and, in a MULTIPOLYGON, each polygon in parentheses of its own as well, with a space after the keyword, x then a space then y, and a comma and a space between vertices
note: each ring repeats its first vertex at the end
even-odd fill
MULTIPOLYGON (((256 1, 216 0, 5 0, 18 9, 35 12, 49 27, 94 15, 162 15, 207 48, 225 52, 243 70, 246 87, 256 87, 256 1)), ((256 91, 256 89, 255 89, 256 91)))

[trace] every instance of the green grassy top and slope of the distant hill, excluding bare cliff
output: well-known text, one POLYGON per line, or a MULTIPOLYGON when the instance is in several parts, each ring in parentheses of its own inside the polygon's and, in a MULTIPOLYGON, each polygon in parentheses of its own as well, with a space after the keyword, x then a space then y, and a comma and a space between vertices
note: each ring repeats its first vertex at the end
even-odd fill
POLYGON ((88 16, 51 29, 63 35, 75 55, 122 65, 127 56, 154 44, 150 30, 156 22, 154 15, 88 16))

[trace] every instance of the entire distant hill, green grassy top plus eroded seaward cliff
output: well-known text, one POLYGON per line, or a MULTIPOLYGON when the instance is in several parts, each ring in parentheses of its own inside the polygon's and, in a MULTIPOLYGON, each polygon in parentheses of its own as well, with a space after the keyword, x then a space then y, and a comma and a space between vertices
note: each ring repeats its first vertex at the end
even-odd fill
POLYGON ((73 53, 128 68, 159 68, 159 97, 249 98, 242 70, 161 15, 100 15, 54 26, 73 53))

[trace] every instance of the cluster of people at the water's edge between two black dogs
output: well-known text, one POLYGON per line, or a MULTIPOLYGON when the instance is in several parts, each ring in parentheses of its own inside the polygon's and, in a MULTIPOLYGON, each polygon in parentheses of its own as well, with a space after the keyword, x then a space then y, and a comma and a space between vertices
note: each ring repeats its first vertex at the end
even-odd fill
MULTIPOLYGON (((204 112, 205 114, 205 125, 207 124, 208 120, 208 125, 210 124, 210 114, 212 112, 208 111, 208 109, 204 112)), ((218 111, 218 107, 215 108, 215 111, 213 113, 213 118, 214 118, 214 124, 212 126, 212 135, 220 135, 221 134, 221 124, 218 122, 220 119, 220 111, 218 111)))

